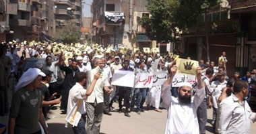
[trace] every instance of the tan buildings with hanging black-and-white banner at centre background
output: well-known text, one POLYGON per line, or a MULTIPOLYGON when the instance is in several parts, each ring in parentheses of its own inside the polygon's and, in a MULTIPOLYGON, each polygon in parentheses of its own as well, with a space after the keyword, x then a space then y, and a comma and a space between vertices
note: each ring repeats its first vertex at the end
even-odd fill
POLYGON ((92 42, 108 46, 122 44, 127 48, 155 48, 139 25, 148 1, 94 0, 92 3, 92 42))

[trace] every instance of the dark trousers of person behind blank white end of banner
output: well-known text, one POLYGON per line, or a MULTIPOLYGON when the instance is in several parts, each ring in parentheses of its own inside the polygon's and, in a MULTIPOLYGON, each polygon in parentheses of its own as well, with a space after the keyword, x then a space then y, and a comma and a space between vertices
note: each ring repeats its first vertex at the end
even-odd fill
POLYGON ((120 86, 119 87, 119 109, 122 109, 122 100, 124 98, 124 105, 125 105, 125 113, 129 112, 130 108, 130 94, 131 88, 120 86))

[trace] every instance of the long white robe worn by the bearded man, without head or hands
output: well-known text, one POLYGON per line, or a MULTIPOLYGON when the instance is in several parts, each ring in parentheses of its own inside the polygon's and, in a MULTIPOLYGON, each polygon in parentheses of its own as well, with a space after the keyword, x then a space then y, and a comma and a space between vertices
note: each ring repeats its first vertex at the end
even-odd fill
POLYGON ((174 98, 170 92, 170 85, 162 85, 162 100, 168 109, 166 134, 174 133, 199 133, 197 121, 197 107, 205 97, 204 87, 198 90, 195 96, 191 97, 190 105, 181 105, 178 98, 174 98))

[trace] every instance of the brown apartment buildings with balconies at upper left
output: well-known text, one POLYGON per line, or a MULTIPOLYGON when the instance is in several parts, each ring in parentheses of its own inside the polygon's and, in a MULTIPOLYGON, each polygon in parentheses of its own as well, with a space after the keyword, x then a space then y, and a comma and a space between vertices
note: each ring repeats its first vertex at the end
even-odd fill
POLYGON ((0 0, 1 42, 52 42, 57 28, 67 21, 80 31, 81 0, 0 0))

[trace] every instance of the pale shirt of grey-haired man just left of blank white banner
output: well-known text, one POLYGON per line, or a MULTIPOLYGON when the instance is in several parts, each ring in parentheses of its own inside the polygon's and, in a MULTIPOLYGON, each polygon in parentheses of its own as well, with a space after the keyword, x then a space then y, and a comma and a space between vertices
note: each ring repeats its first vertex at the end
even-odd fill
MULTIPOLYGON (((88 88, 90 86, 90 84, 92 83, 92 80, 94 79, 94 75, 98 72, 98 67, 94 68, 93 70, 90 70, 88 72, 86 72, 88 78, 86 80, 86 88, 88 88)), ((108 80, 106 78, 106 76, 103 73, 103 76, 101 76, 100 78, 98 78, 95 86, 94 86, 94 90, 92 90, 92 94, 90 96, 88 96, 86 102, 87 103, 94 103, 95 100, 97 100, 97 104, 98 103, 103 103, 103 88, 104 86, 109 86, 108 80)))

